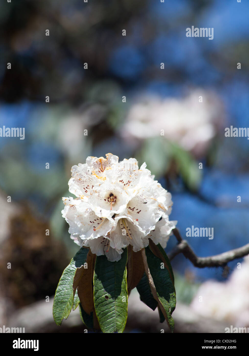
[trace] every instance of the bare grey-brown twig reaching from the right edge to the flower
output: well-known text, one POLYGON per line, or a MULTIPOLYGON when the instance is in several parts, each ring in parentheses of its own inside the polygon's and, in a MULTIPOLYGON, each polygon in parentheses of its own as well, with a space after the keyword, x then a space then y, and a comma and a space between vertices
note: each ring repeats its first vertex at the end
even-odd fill
POLYGON ((172 231, 178 241, 178 245, 168 253, 169 260, 172 260, 179 253, 183 253, 195 267, 220 267, 225 266, 230 261, 236 260, 236 258, 241 258, 249 254, 249 244, 247 244, 239 248, 234 248, 234 250, 220 253, 219 255, 198 257, 195 255, 188 242, 182 239, 179 231, 177 229, 173 229, 172 231))

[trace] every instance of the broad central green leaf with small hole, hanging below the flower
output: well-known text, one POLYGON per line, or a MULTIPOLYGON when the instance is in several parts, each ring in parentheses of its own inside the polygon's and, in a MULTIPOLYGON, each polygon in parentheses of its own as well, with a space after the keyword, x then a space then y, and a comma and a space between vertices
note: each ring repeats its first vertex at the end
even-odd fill
POLYGON ((103 333, 123 333, 128 308, 126 281, 127 248, 118 262, 97 256, 93 276, 93 298, 103 333))

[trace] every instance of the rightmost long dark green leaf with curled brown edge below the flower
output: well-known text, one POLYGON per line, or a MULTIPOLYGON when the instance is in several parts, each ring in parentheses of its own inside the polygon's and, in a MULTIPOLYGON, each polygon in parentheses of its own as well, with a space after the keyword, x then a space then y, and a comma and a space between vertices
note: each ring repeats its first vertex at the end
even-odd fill
POLYGON ((171 316, 175 310, 175 287, 168 268, 161 268, 162 260, 155 256, 150 246, 145 248, 149 272, 155 284, 158 304, 171 332, 174 331, 174 320, 171 316))

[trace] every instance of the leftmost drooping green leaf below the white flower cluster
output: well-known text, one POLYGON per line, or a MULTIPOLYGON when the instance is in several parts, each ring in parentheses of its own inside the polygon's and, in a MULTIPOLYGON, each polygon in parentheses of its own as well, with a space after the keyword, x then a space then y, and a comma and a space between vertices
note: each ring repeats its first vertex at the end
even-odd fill
POLYGON ((61 325, 62 320, 66 319, 71 312, 75 295, 75 291, 72 288, 74 275, 76 269, 85 263, 88 251, 88 248, 81 247, 60 277, 53 304, 53 317, 57 325, 61 325))

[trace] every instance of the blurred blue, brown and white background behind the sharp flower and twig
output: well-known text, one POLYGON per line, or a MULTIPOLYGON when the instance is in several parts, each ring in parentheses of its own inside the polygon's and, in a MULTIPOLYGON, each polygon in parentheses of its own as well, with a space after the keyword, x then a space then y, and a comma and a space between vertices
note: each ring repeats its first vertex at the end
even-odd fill
MULTIPOLYGON (((186 238, 196 255, 248 243, 248 140, 224 136, 249 126, 248 12, 235 0, 1 2, 0 127, 25 127, 24 140, 0 137, 1 325, 83 332, 78 310, 60 330, 51 310, 78 250, 61 197, 87 156, 146 162, 172 193, 183 238, 192 225, 213 227, 212 240, 186 238), (213 40, 186 37, 192 25, 213 27, 213 40)), ((172 236, 166 252, 175 244, 172 236)), ((178 255, 172 266, 176 332, 249 327, 246 258, 198 269, 178 255)), ((126 331, 158 332, 157 311, 135 320, 142 302, 135 290, 130 299, 126 331)))

